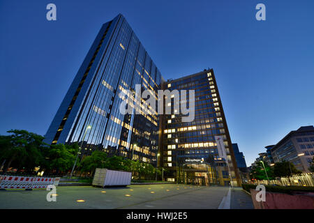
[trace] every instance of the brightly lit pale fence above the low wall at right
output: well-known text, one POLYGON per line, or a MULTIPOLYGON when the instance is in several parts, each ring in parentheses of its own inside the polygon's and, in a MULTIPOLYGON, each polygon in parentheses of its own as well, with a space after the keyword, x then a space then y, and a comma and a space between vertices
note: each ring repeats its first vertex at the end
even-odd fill
POLYGON ((296 174, 289 177, 276 178, 276 180, 254 180, 253 183, 264 185, 314 187, 314 174, 296 174))

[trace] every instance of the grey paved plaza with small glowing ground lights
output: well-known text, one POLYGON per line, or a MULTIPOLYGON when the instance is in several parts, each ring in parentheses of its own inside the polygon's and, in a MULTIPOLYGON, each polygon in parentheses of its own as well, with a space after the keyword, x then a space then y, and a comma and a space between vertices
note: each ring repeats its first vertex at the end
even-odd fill
MULTIPOLYGON (((129 185, 128 187, 57 187, 57 201, 48 202, 47 190, 2 190, 0 208, 113 208, 113 209, 216 209, 229 187, 195 185, 129 185)), ((240 187, 231 190, 230 208, 253 208, 240 187)))

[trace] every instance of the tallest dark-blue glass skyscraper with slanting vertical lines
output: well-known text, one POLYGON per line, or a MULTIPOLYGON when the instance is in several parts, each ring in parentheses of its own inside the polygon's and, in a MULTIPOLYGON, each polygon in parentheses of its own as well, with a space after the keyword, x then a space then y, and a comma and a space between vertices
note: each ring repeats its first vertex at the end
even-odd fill
POLYGON ((135 84, 140 84, 142 91, 148 89, 157 96, 161 81, 160 71, 140 40, 118 15, 101 27, 45 134, 45 142, 77 142, 82 143, 86 155, 101 150, 156 164, 158 115, 121 114, 119 93, 135 93, 135 84))

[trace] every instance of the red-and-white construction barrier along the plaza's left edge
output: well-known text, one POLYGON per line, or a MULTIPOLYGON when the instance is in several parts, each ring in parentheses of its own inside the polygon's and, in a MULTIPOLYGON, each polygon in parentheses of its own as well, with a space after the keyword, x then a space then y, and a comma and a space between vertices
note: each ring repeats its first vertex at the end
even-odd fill
POLYGON ((0 176, 0 189, 40 189, 59 184, 60 178, 0 176))

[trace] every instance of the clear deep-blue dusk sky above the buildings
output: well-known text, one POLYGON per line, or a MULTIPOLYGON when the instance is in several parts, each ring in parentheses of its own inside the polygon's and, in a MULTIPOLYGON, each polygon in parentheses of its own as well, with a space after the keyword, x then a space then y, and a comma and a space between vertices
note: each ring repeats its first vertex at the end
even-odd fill
POLYGON ((0 1, 0 134, 45 134, 100 26, 119 13, 165 79, 214 68, 231 139, 251 165, 314 124, 314 1, 0 1), (46 6, 57 6, 57 21, 46 6), (266 21, 255 19, 264 3, 266 21))

